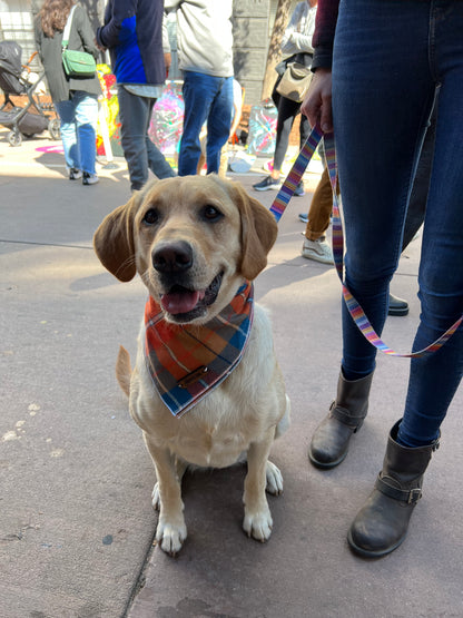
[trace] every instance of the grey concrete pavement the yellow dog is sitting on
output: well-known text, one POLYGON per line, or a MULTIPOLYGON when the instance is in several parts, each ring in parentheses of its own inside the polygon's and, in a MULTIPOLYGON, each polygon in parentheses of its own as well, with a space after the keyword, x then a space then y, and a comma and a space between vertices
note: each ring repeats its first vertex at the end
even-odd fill
MULTIPOLYGON (((185 547, 176 559, 152 547, 155 473, 114 376, 119 344, 135 353, 146 293, 139 281, 118 283, 91 248, 104 216, 129 197, 126 167, 118 160, 83 187, 66 179, 62 155, 37 150, 50 145, 10 148, 0 130, 0 616, 463 616, 461 389, 408 538, 382 560, 356 558, 345 536, 401 415, 408 361, 378 357, 371 412, 343 465, 308 463, 341 359, 339 282, 299 255, 309 194, 290 202, 256 282, 293 403, 272 452, 285 481, 269 499, 273 536, 260 545, 243 533, 237 467, 188 474, 185 547)), ((256 178, 239 176, 248 189, 256 178)), ((275 197, 254 195, 266 206, 275 197)), ((411 305, 384 332, 400 351, 418 320, 418 253, 415 241, 392 286, 411 305)))

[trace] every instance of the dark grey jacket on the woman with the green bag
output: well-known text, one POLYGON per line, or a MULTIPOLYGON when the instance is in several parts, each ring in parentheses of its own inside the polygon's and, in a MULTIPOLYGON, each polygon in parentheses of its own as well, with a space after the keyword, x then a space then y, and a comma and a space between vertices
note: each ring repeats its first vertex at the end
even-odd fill
MULTIPOLYGON (((65 73, 61 60, 62 32, 55 32, 52 39, 46 37, 39 18, 36 18, 35 31, 37 50, 43 65, 48 88, 53 102, 69 100, 69 92, 71 90, 82 90, 89 95, 101 95, 97 76, 76 79, 69 78, 65 73)), ((86 11, 77 6, 73 11, 68 48, 77 51, 87 51, 97 59, 99 51, 95 46, 93 39, 95 35, 91 30, 90 20, 86 11)))

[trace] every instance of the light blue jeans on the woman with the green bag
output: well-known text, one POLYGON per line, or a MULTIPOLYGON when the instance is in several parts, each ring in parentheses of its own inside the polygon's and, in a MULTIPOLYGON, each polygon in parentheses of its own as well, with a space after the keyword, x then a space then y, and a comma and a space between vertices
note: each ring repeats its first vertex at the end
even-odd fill
POLYGON ((68 101, 55 104, 60 119, 66 165, 95 174, 97 158, 98 98, 82 90, 68 101))

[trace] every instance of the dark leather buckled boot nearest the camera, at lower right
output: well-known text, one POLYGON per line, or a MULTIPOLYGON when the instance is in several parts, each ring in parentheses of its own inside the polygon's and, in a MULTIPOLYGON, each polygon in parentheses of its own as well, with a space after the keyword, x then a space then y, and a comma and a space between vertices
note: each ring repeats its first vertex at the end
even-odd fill
POLYGON ((439 440, 426 447, 407 449, 395 439, 401 421, 392 428, 375 489, 351 526, 351 548, 365 558, 394 551, 406 537, 410 518, 421 498, 423 474, 439 440))

